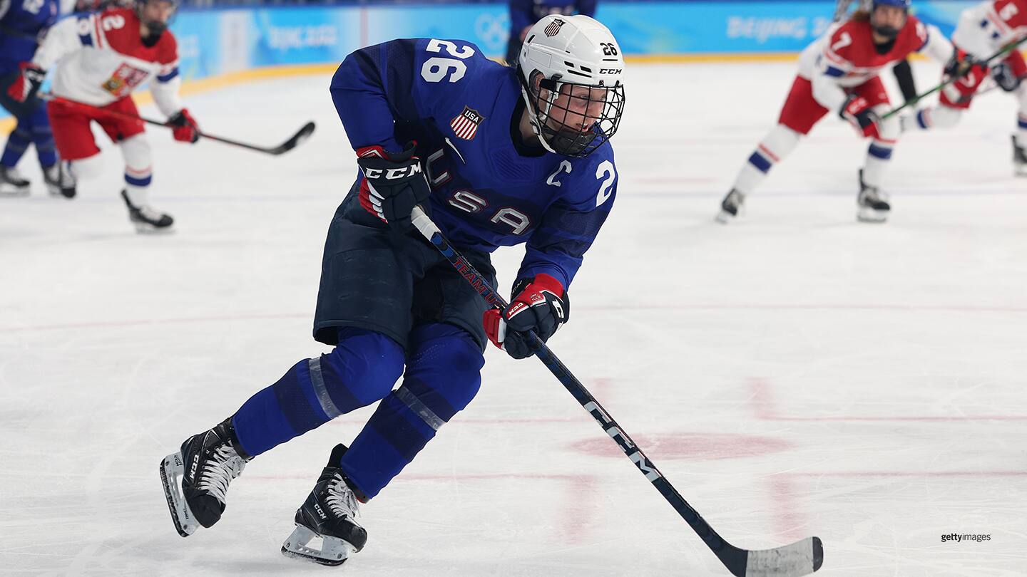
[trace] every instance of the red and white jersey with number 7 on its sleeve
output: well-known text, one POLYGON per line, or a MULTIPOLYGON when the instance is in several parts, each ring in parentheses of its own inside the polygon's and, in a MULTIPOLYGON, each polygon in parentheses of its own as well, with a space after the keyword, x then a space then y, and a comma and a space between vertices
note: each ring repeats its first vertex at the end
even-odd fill
POLYGON ((952 55, 952 44, 934 26, 908 16, 906 25, 883 53, 874 44, 866 20, 833 25, 799 55, 799 76, 812 84, 813 98, 829 110, 838 110, 848 97, 846 88, 863 84, 912 52, 924 52, 939 62, 952 55))

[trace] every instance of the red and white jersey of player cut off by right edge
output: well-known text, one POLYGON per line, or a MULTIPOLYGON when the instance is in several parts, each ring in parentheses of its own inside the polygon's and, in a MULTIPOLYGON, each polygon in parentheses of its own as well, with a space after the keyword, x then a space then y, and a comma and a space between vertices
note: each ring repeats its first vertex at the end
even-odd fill
POLYGON ((984 60, 1027 36, 1027 0, 988 0, 959 14, 952 43, 984 60))

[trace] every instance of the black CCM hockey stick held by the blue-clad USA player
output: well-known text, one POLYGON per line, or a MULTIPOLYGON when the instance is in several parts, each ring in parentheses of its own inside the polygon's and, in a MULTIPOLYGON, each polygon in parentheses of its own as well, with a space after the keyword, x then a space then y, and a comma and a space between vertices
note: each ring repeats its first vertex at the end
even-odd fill
MULTIPOLYGON (((463 255, 450 245, 439 227, 431 222, 431 219, 424 214, 420 206, 414 207, 411 218, 414 226, 424 235, 424 238, 428 239, 446 257, 446 260, 456 268, 460 276, 485 299, 485 302, 498 309, 506 307, 506 301, 489 286, 485 277, 474 270, 474 267, 467 262, 463 255)), ((588 392, 588 389, 584 388, 584 385, 557 358, 557 355, 553 354, 553 351, 538 339, 534 332, 528 333, 528 345, 534 351, 535 356, 545 363, 553 375, 620 447, 624 455, 635 463, 635 466, 656 488, 656 491, 659 491, 659 494, 702 538, 710 550, 717 555, 717 559, 732 575, 736 577, 799 577, 800 575, 809 575, 821 568, 821 565, 824 564, 824 545, 819 537, 807 537, 791 545, 757 551, 739 549, 725 541, 685 501, 678 490, 671 485, 671 482, 667 480, 667 477, 659 472, 656 465, 646 457, 642 449, 632 440, 631 436, 620 428, 620 425, 613 420, 606 409, 603 409, 603 406, 588 392)))

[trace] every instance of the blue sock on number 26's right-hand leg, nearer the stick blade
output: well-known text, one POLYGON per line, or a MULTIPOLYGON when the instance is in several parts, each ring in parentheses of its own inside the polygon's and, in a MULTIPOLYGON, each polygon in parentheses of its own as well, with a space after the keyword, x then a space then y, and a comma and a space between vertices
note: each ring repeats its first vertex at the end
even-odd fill
POLYGON ((432 323, 411 333, 403 385, 378 406, 341 466, 366 501, 400 474, 482 385, 482 349, 464 330, 432 323))

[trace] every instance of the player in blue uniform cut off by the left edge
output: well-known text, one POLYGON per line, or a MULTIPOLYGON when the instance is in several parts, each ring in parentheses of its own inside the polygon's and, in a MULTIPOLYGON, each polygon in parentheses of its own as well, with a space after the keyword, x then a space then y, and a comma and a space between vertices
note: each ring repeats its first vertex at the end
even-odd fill
MULTIPOLYGON (((17 78, 21 63, 32 59, 40 38, 56 22, 60 11, 60 0, 0 0, 0 85, 6 86, 17 78)), ((60 195, 60 164, 46 104, 39 99, 18 102, 0 90, 0 105, 17 120, 0 157, 0 195, 29 194, 31 183, 15 165, 30 144, 36 147, 46 188, 60 195)))

